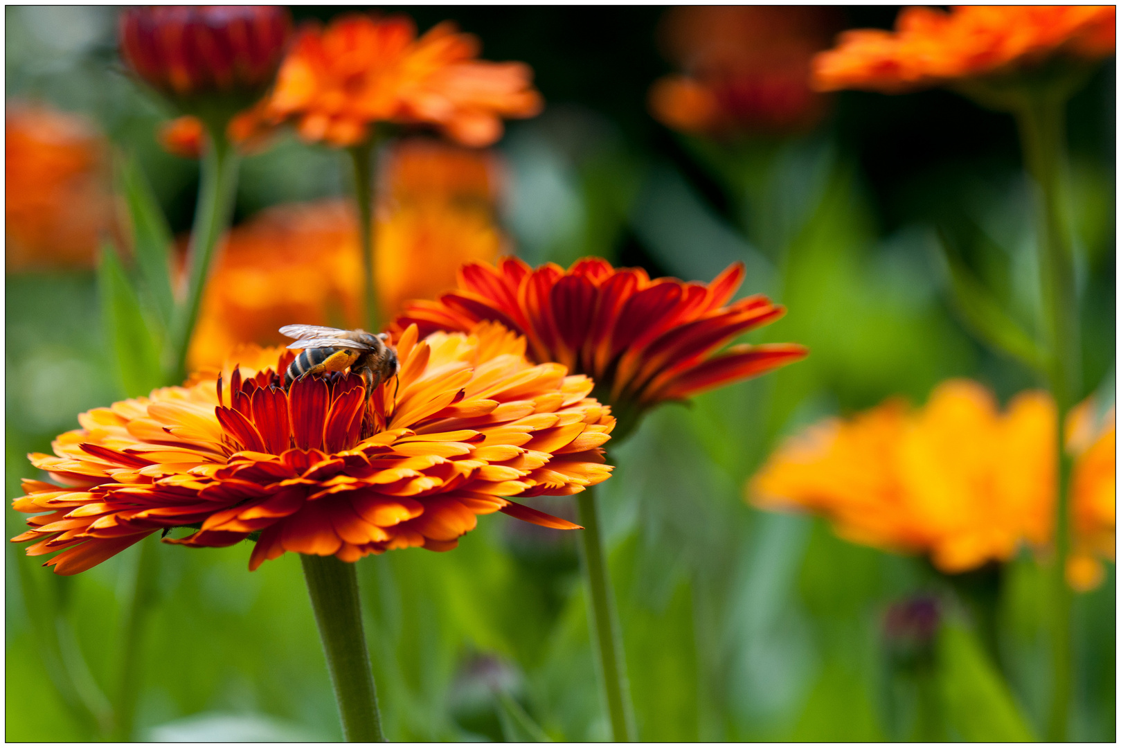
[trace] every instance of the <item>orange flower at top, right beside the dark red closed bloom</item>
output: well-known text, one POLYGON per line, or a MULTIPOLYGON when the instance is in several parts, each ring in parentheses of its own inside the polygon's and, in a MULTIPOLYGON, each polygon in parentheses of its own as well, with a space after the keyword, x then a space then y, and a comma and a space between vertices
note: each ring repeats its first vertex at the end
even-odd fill
POLYGON ((404 16, 350 15, 306 27, 269 101, 309 141, 353 146, 376 122, 430 124, 467 146, 502 135, 501 118, 537 114, 541 99, 521 63, 475 59, 479 41, 441 24, 416 37, 404 16))

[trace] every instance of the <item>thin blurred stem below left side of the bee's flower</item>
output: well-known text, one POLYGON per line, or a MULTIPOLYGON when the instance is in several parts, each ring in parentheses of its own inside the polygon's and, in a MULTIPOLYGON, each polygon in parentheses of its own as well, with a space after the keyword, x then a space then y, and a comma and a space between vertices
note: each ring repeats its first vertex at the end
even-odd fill
POLYGON ((140 647, 143 643, 145 622, 151 609, 156 591, 159 562, 156 546, 159 538, 152 535, 140 542, 139 557, 132 570, 132 593, 124 612, 124 629, 121 638, 121 675, 118 681, 113 730, 114 740, 131 740, 132 723, 136 718, 137 695, 140 692, 140 647))

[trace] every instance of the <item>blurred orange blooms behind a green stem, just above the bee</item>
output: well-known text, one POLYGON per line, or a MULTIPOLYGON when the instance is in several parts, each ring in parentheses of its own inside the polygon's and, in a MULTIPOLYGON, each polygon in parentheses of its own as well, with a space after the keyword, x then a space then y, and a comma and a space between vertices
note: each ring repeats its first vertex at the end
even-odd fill
MULTIPOLYGON (((387 155, 374 224, 383 313, 455 286, 469 260, 498 257, 498 166, 487 153, 405 140, 387 155)), ((203 298, 193 367, 221 363, 238 343, 280 343, 281 325, 360 324, 362 257, 342 200, 277 205, 230 232, 203 298)))

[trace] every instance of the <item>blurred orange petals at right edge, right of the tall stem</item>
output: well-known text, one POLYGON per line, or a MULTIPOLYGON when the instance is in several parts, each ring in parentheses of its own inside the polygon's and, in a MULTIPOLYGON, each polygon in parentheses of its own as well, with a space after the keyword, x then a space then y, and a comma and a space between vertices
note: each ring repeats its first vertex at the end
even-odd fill
POLYGON ((1114 560, 1117 545, 1117 417, 1111 407, 1095 418, 1087 400, 1067 416, 1074 551, 1066 566, 1071 587, 1090 590, 1103 578, 1099 558, 1114 560))

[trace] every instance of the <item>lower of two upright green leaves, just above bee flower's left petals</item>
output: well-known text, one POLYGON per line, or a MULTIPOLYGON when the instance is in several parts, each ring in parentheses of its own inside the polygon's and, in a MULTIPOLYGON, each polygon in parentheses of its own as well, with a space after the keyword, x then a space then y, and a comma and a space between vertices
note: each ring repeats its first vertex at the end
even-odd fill
POLYGON ((136 290, 121 265, 117 249, 102 244, 98 264, 101 318, 124 394, 147 395, 164 382, 159 344, 145 318, 136 290))

